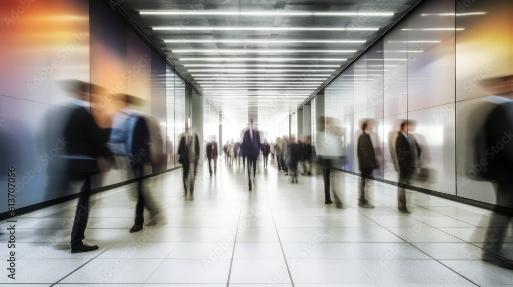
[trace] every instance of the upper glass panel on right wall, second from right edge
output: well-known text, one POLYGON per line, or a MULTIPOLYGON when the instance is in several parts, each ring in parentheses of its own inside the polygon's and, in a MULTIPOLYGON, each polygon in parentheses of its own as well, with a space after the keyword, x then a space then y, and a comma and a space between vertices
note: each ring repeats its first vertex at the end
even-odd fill
POLYGON ((452 103, 455 98, 454 0, 420 4, 408 15, 408 111, 452 103))

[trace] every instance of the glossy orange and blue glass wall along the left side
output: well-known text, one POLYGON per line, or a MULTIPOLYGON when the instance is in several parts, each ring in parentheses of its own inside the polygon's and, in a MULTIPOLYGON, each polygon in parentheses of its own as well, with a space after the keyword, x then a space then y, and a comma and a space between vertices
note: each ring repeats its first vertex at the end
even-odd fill
MULTIPOLYGON (((19 2, 4 1, 2 11, 19 2)), ((133 96, 148 123, 151 168, 175 167, 177 135, 185 128, 185 83, 103 1, 45 2, 0 26, 0 162, 17 171, 16 208, 78 192, 66 187, 63 129, 73 111, 63 80, 77 79, 103 89, 88 93, 86 109, 110 128, 127 109, 122 94, 133 96), (173 142, 174 141, 174 142, 173 142)), ((94 179, 93 188, 133 177, 128 157, 94 179)), ((7 186, 7 178, 0 184, 7 186)), ((0 213, 7 211, 3 204, 0 213)))

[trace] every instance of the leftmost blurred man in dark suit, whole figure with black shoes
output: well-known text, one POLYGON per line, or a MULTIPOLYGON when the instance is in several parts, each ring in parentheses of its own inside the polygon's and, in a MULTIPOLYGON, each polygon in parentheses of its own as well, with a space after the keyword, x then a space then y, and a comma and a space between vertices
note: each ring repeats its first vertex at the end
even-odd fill
POLYGON ((78 198, 73 227, 71 229, 71 253, 87 252, 98 249, 83 242, 89 216, 89 197, 91 195, 91 177, 100 172, 97 158, 112 153, 105 146, 109 140, 110 129, 101 129, 89 113, 89 91, 98 93, 100 87, 78 80, 64 83, 65 89, 74 97, 69 100, 73 109, 66 120, 64 139, 68 175, 71 180, 84 181, 78 198))

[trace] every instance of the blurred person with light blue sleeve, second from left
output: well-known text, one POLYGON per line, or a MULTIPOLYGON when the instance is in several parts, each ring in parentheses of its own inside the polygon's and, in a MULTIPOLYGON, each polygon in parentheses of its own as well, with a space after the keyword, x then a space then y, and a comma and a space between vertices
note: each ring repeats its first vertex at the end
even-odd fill
POLYGON ((158 213, 150 192, 143 191, 145 167, 147 163, 151 162, 151 151, 147 144, 147 140, 150 138, 150 129, 148 119, 139 111, 143 99, 127 94, 117 94, 116 99, 121 101, 122 106, 114 117, 114 129, 110 135, 109 147, 116 155, 128 156, 130 167, 137 181, 135 219, 129 230, 132 233, 143 229, 145 208, 151 217, 158 213))

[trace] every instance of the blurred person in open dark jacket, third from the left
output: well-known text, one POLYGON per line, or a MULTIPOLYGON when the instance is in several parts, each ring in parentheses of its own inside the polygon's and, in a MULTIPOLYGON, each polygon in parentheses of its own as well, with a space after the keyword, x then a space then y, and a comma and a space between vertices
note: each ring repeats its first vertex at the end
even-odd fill
POLYGON ((189 129, 187 124, 185 124, 185 133, 180 138, 178 155, 178 162, 183 167, 184 195, 187 196, 187 186, 189 186, 189 198, 194 199, 194 180, 200 159, 200 140, 198 134, 189 129))

